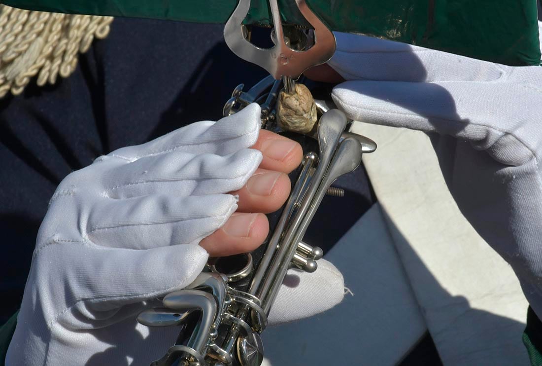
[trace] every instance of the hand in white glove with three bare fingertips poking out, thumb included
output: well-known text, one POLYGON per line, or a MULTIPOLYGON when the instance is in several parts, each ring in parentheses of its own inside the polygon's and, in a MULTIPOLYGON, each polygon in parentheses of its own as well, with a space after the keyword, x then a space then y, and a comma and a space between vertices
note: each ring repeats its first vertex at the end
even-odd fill
MULTIPOLYGON (((254 104, 68 175, 38 232, 7 364, 148 365, 162 357, 178 329, 149 329, 135 317, 189 285, 207 251, 228 255, 261 244, 267 218, 246 212, 285 202, 285 172, 299 164, 300 150, 260 133, 254 104)), ((299 278, 280 291, 270 323, 310 316, 343 298, 343 278, 329 262, 292 275, 299 278)))

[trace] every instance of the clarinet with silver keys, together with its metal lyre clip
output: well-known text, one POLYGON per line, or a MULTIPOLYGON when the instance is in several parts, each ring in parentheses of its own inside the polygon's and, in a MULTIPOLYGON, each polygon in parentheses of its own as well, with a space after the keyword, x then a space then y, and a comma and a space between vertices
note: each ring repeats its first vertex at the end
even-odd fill
MULTIPOLYGON (((270 5, 275 30, 280 29, 274 34, 278 46, 267 54, 269 57, 276 56, 276 52, 285 54, 285 47, 288 52, 296 53, 298 56, 292 60, 302 61, 291 62, 295 64, 291 65, 295 66, 292 71, 285 69, 283 63, 281 67, 275 67, 270 61, 261 61, 267 57, 266 54, 247 40, 247 31, 241 25, 250 0, 239 2, 224 31, 227 43, 237 55, 266 65, 272 75, 248 92, 243 91, 243 85, 236 87, 224 106, 224 115, 236 113, 251 102, 258 102, 262 107, 262 127, 281 132, 276 123, 280 91, 285 88, 291 92, 292 80, 297 79, 303 70, 327 61, 333 54, 334 38, 333 44, 330 44, 329 35, 333 37, 331 32, 325 27, 322 29, 321 23, 314 24, 320 21, 317 18, 314 20, 314 14, 304 1, 295 0, 295 3, 314 26, 311 37, 314 44, 308 47, 312 54, 300 57, 307 55, 304 53, 306 51, 292 50, 286 46, 284 34, 287 32, 282 31, 276 0, 271 0, 270 5), (318 40, 324 44, 318 44, 318 40)), ((295 29, 293 31, 299 31, 301 35, 310 33, 295 29)), ((292 32, 292 29, 288 31, 292 32)), ((295 183, 288 201, 281 211, 269 216, 270 234, 263 245, 253 253, 211 259, 206 270, 190 286, 168 294, 163 299, 163 307, 139 314, 138 321, 147 326, 179 327, 176 343, 152 366, 261 364, 263 344, 260 334, 266 329, 267 317, 288 269, 314 272, 322 257, 322 249, 302 242, 322 198, 335 179, 358 167, 363 152, 376 149, 372 140, 346 131, 349 121, 343 112, 333 108, 332 102, 316 100, 315 106, 318 111, 317 126, 311 133, 298 134, 305 156, 298 170, 291 174, 295 183)))

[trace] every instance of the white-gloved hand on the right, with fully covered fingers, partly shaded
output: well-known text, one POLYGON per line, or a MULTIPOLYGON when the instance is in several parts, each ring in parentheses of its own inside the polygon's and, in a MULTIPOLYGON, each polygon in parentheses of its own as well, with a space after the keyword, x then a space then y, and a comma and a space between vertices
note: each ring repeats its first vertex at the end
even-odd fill
POLYGON ((542 318, 542 68, 356 35, 337 46, 330 65, 352 80, 334 88, 337 106, 429 134, 457 206, 542 318))

